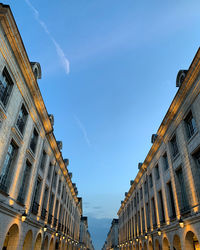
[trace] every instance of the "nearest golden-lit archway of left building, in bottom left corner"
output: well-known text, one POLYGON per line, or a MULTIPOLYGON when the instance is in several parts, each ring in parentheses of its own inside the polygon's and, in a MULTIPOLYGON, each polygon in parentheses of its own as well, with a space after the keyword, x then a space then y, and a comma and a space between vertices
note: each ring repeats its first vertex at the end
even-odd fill
POLYGON ((17 249, 18 241, 19 241, 19 228, 17 224, 14 224, 10 227, 10 229, 6 234, 2 249, 6 250, 17 249))

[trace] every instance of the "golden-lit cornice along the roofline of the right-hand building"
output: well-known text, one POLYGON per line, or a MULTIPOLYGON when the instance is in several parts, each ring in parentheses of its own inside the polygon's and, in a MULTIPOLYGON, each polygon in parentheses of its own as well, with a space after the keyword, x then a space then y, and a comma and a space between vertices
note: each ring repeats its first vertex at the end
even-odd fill
POLYGON ((153 159, 157 150, 161 146, 169 126, 171 125, 175 116, 177 115, 184 99, 186 98, 188 92, 190 91, 191 87, 193 86, 193 83, 195 82, 196 78, 198 77, 199 72, 200 72, 200 48, 198 48, 197 53, 196 53, 191 65, 188 69, 188 73, 184 79, 184 82, 182 83, 182 85, 178 89, 164 119, 162 120, 160 127, 158 128, 158 131, 157 131, 158 137, 157 137, 156 141, 154 142, 154 144, 152 145, 151 149, 149 150, 149 152, 148 152, 148 154, 147 154, 147 156, 142 164, 142 167, 138 171, 138 174, 136 175, 135 180, 128 191, 128 194, 126 195, 120 209, 118 210, 118 213, 117 213, 118 216, 121 213, 121 211, 123 210, 125 204, 128 202, 129 198, 131 197, 131 195, 132 195, 135 187, 137 186, 138 182, 140 181, 141 177, 146 172, 149 163, 151 162, 151 160, 153 159))

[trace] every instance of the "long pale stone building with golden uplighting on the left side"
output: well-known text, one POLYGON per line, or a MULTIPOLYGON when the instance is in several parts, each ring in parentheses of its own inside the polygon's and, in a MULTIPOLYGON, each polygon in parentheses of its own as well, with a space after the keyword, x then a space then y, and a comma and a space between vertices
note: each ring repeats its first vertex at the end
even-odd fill
POLYGON ((78 249, 82 201, 9 6, 0 4, 0 249, 78 249))

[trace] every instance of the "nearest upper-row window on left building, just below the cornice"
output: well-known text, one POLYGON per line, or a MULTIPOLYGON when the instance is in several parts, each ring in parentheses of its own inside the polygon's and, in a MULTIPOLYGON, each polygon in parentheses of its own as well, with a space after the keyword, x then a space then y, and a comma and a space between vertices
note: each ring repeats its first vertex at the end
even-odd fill
POLYGON ((7 105, 10 97, 13 81, 8 73, 8 70, 4 68, 2 75, 0 76, 0 100, 4 106, 7 105))

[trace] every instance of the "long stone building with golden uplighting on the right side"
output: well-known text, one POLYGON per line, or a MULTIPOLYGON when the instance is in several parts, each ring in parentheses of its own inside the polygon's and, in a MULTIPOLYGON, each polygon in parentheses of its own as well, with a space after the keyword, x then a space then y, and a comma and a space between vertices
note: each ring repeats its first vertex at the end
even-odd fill
POLYGON ((120 249, 200 249, 200 49, 118 211, 120 249))

